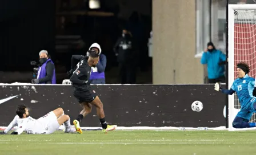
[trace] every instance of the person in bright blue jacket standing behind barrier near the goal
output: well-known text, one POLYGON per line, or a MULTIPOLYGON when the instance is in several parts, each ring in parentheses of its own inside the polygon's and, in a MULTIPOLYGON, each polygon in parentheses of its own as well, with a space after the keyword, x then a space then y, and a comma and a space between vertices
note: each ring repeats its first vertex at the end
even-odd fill
POLYGON ((207 43, 201 63, 207 64, 209 83, 225 83, 225 62, 226 55, 222 51, 217 50, 212 42, 207 43))

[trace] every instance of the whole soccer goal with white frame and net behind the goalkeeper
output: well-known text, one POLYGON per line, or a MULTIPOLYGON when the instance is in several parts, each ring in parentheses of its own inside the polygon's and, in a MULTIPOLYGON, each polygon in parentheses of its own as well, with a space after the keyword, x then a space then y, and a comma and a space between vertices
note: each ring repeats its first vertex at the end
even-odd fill
MULTIPOLYGON (((256 5, 229 5, 229 83, 230 88, 236 75, 236 65, 245 62, 250 66, 249 76, 256 75, 256 5)), ((229 95, 229 130, 241 105, 236 94, 229 95)), ((250 122, 255 122, 255 115, 250 122)))

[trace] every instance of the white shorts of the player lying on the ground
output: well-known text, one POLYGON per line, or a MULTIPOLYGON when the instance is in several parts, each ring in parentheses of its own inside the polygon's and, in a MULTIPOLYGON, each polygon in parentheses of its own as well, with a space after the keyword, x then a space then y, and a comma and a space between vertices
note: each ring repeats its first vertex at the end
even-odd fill
POLYGON ((60 126, 57 121, 57 116, 53 111, 47 113, 43 117, 40 117, 38 122, 42 124, 43 134, 51 134, 60 126))

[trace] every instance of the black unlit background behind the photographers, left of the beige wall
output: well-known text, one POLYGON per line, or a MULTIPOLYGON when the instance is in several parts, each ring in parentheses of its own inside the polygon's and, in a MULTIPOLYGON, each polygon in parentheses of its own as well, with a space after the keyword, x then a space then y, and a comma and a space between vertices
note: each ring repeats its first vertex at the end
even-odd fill
POLYGON ((38 61, 41 50, 51 55, 57 83, 62 83, 67 79, 66 71, 70 70, 71 55, 85 55, 94 42, 101 45, 102 54, 107 56, 106 82, 117 83, 113 47, 124 27, 134 30, 133 35, 141 46, 138 83, 151 83, 151 59, 147 49, 151 0, 100 2, 101 9, 91 10, 89 0, 0 1, 0 83, 30 83, 33 79, 30 61, 38 61), (138 25, 130 20, 136 12, 138 25))

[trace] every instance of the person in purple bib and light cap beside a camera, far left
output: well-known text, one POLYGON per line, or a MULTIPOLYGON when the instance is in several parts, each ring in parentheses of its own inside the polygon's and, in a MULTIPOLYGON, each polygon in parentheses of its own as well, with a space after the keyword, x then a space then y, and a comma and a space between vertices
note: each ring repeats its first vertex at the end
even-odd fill
POLYGON ((45 50, 39 52, 40 67, 38 68, 37 79, 33 79, 35 84, 56 84, 55 66, 50 59, 50 55, 45 50))

